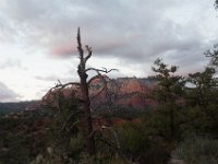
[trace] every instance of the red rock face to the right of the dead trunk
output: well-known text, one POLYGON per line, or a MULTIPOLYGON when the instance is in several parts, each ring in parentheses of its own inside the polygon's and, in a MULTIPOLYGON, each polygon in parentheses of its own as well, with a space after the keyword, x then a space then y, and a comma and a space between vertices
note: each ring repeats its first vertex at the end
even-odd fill
MULTIPOLYGON (((128 107, 146 108, 152 102, 146 98, 146 93, 155 87, 155 81, 150 79, 119 78, 108 80, 107 87, 93 101, 93 108, 99 107, 128 107)), ((90 95, 96 94, 104 86, 100 80, 96 80, 90 87, 90 95)))

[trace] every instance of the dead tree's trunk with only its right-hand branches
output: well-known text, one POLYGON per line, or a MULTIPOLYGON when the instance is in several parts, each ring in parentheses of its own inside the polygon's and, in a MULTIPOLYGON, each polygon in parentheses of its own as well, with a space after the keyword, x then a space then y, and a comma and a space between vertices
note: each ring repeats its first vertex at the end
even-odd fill
MULTIPOLYGON (((90 115, 90 97, 89 97, 89 93, 88 93, 88 87, 89 84, 95 80, 95 79, 101 79, 105 83, 105 86, 97 93, 100 94, 107 86, 107 82, 104 78, 104 75, 101 75, 101 72, 104 73, 109 73, 110 71, 117 70, 117 69, 110 69, 107 70, 106 68, 102 69, 96 69, 96 68, 88 68, 86 69, 86 62, 87 60, 90 58, 92 56, 92 47, 89 46, 85 46, 86 50, 87 50, 87 56, 84 56, 84 50, 82 47, 82 43, 81 43, 81 32, 80 32, 80 27, 77 30, 77 50, 78 50, 78 55, 80 55, 80 65, 77 67, 77 73, 80 75, 80 80, 81 80, 81 92, 82 92, 82 112, 84 114, 83 116, 83 134, 86 138, 86 147, 87 147, 87 152, 89 154, 94 154, 95 153, 95 140, 94 140, 94 134, 93 133, 93 124, 92 124, 92 115, 90 115), (88 71, 95 71, 97 72, 97 75, 93 77, 89 81, 87 81, 88 71)), ((94 96, 95 97, 95 96, 94 96)))

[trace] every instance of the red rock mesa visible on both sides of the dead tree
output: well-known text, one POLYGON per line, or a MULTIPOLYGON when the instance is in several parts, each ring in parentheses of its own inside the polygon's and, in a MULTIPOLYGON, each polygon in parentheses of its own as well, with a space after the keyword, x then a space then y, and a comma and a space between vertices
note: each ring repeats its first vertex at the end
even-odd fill
MULTIPOLYGON (((119 78, 112 79, 105 77, 105 81, 101 79, 94 80, 89 85, 89 96, 93 109, 101 108, 133 108, 142 109, 152 105, 146 94, 155 87, 156 82, 152 79, 137 79, 137 78, 119 78)), ((58 102, 55 101, 57 91, 52 91, 52 94, 47 93, 45 99, 53 103, 53 106, 58 106, 58 102)), ((73 93, 76 98, 82 99, 80 87, 71 86, 62 90, 62 96, 69 101, 73 93)), ((72 97, 71 97, 72 98, 72 97)))

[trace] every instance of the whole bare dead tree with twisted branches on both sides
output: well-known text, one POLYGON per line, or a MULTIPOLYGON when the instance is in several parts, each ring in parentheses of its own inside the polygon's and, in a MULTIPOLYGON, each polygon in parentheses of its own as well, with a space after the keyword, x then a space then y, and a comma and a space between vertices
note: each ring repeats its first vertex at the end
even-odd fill
MULTIPOLYGON (((53 86, 49 90, 48 95, 44 96, 41 102, 46 102, 46 99, 49 95, 55 95, 57 93, 59 94, 59 92, 61 92, 63 89, 68 87, 69 85, 77 86, 81 91, 81 97, 78 99, 81 102, 81 110, 78 110, 76 113, 72 113, 69 116, 69 118, 63 124, 61 131, 64 129, 65 125, 72 117, 75 117, 78 113, 81 113, 82 120, 80 121, 80 124, 82 125, 82 133, 83 133, 84 138, 86 139, 86 151, 89 154, 94 154, 95 153, 95 139, 94 139, 95 132, 94 131, 96 131, 96 129, 95 130, 93 129, 92 114, 90 114, 90 98, 93 99, 93 98, 97 97, 107 87, 107 81, 101 73, 109 73, 110 71, 113 71, 117 69, 107 70, 106 68, 102 68, 102 69, 86 68, 86 62, 92 57, 92 52, 93 52, 92 47, 89 47, 87 45, 85 46, 85 48, 87 50, 87 55, 85 56, 83 46, 81 43, 80 27, 77 28, 77 37, 76 38, 77 38, 77 50, 78 50, 78 57, 80 57, 80 65, 77 67, 80 82, 78 83, 70 82, 66 84, 62 84, 60 81, 58 81, 58 84, 56 84, 56 86, 53 86), (95 71, 97 73, 97 75, 90 78, 87 81, 87 78, 88 78, 87 72, 88 71, 95 71), (89 97, 89 92, 88 92, 89 85, 96 79, 101 79, 104 82, 104 86, 96 95, 94 95, 93 97, 89 97)), ((44 105, 41 104, 41 106, 44 106, 44 105)), ((78 122, 76 122, 76 124, 78 124, 78 122)))

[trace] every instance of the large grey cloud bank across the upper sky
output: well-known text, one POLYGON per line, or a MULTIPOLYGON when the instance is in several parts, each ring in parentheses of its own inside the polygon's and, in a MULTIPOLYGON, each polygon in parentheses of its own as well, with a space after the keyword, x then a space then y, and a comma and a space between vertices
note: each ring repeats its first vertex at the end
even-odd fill
POLYGON ((201 16, 195 15, 194 22, 180 24, 179 16, 172 20, 166 15, 171 9, 193 4, 187 0, 182 4, 179 0, 3 2, 0 13, 7 13, 9 22, 13 22, 9 24, 11 28, 25 34, 28 46, 47 48, 50 56, 61 58, 76 55, 77 26, 82 28, 84 45, 92 46, 96 56, 117 57, 126 65, 150 63, 158 56, 171 52, 171 60, 186 62, 189 56, 198 66, 202 60, 198 56, 213 44, 197 28, 201 16))

